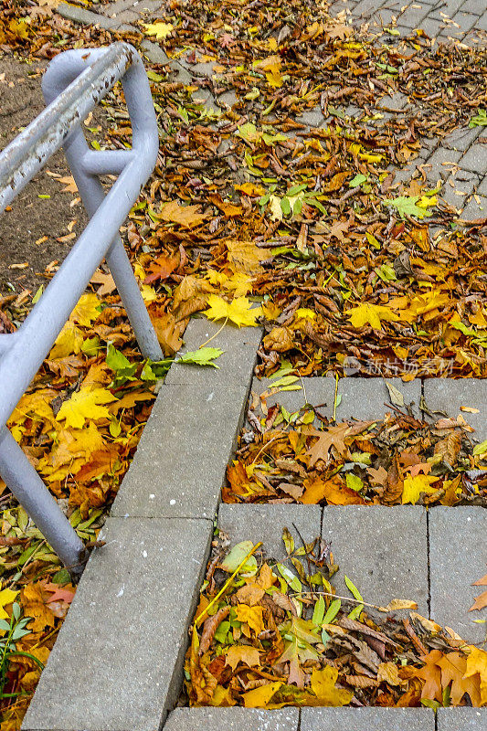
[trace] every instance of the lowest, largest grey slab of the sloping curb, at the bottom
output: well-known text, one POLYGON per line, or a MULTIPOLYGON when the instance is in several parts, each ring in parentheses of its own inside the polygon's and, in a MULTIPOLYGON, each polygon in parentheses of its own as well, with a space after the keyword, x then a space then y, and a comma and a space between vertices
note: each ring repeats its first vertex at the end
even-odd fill
POLYGON ((109 518, 25 731, 154 731, 181 686, 212 524, 109 518))

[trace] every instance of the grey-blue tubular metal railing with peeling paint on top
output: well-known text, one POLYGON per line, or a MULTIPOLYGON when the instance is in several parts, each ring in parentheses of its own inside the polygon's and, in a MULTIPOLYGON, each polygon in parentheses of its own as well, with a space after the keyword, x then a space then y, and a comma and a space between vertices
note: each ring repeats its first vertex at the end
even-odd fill
POLYGON ((15 333, 0 334, 0 475, 76 576, 83 545, 5 424, 103 259, 143 355, 163 357, 118 233, 154 169, 158 134, 143 62, 126 43, 59 54, 48 65, 42 90, 47 109, 0 154, 0 213, 62 146, 90 222, 25 322, 15 333), (132 149, 90 150, 81 122, 119 79, 132 149), (107 196, 98 177, 105 174, 118 175, 107 196))

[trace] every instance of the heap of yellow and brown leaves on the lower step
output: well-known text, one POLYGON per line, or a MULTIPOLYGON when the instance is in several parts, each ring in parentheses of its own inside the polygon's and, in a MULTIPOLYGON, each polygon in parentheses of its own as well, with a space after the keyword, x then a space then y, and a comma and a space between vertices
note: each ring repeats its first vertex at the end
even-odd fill
POLYGON ((285 563, 258 560, 251 541, 229 553, 228 536, 214 541, 186 654, 190 705, 487 704, 487 652, 416 612, 399 619, 412 601, 367 615, 349 577, 353 596, 336 597, 323 539, 296 548, 284 528, 283 540, 285 563))

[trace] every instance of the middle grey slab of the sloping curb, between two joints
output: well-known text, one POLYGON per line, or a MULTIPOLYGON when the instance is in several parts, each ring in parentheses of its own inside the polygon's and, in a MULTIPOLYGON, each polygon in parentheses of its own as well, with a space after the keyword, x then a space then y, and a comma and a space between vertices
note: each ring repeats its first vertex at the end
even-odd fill
POLYGON ((208 387, 164 385, 111 514, 213 519, 247 392, 224 376, 208 387))

